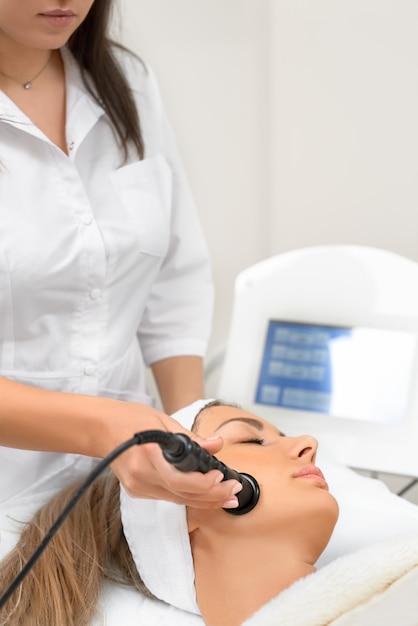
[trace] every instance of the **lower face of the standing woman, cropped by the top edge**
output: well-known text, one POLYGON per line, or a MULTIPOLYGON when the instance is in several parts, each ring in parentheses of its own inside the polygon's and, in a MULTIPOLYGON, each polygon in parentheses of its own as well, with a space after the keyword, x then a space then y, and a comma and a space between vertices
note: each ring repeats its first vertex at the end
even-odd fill
POLYGON ((93 4, 94 0, 0 0, 0 49, 58 49, 77 30, 93 4), (54 18, 54 13, 63 11, 65 16, 54 18))

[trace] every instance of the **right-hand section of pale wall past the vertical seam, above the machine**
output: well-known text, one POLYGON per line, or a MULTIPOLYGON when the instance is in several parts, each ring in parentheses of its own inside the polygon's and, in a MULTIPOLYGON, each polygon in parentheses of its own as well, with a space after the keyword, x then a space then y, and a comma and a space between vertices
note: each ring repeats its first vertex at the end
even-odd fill
POLYGON ((418 3, 272 0, 270 248, 418 260, 418 3))

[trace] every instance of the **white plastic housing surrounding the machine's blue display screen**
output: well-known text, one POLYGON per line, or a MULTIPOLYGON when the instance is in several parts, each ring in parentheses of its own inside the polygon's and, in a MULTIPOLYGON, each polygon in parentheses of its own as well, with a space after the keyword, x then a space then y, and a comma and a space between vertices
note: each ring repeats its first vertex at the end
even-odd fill
MULTIPOLYGON (((217 395, 265 417, 288 435, 314 435, 351 467, 418 476, 417 339, 417 263, 385 250, 350 245, 279 254, 237 277, 217 395), (404 334, 410 371, 405 373, 399 414, 391 419, 382 411, 382 419, 379 415, 369 419, 353 417, 347 410, 336 417, 257 402, 267 329, 274 321, 301 328, 371 329, 375 335, 379 330, 382 342, 385 335, 392 341, 396 333, 404 334)), ((392 367, 395 378, 400 366, 394 364, 390 347, 386 352, 386 371, 390 374, 392 367)), ((382 355, 384 359, 384 350, 382 355)), ((369 356, 360 355, 359 367, 369 356)), ((356 389, 352 393, 355 398, 356 389)))

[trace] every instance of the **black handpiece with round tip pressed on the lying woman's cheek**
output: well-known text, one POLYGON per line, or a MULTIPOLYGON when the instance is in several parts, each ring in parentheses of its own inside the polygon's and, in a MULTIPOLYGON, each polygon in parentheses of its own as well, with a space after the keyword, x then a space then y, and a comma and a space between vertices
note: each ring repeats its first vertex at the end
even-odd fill
POLYGON ((260 497, 260 487, 256 479, 250 474, 237 472, 227 467, 222 461, 209 454, 195 441, 183 433, 177 433, 172 437, 172 443, 161 445, 163 456, 174 467, 182 472, 202 472, 217 469, 224 475, 224 480, 234 478, 242 484, 242 489, 237 493, 238 507, 224 509, 231 515, 244 515, 252 511, 260 497))

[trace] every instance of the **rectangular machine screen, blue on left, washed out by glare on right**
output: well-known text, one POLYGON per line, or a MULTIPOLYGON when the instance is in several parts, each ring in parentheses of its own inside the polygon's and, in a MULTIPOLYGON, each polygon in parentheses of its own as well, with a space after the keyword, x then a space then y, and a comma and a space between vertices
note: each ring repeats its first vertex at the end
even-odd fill
POLYGON ((407 408, 414 333, 270 321, 258 404, 387 423, 407 408))

